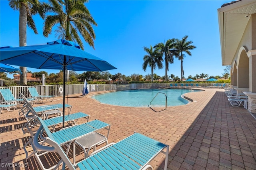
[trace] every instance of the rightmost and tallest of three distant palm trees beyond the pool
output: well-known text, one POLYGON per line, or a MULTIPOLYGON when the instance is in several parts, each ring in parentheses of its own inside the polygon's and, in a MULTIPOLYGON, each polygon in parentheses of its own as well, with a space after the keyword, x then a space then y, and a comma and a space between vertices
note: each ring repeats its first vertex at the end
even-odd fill
POLYGON ((191 45, 193 42, 192 41, 187 41, 188 36, 184 36, 182 40, 176 39, 176 50, 177 53, 175 55, 176 58, 180 60, 180 78, 182 81, 182 77, 184 75, 184 69, 183 69, 183 59, 185 57, 184 53, 187 53, 189 56, 191 56, 190 50, 193 50, 196 48, 195 45, 191 45))

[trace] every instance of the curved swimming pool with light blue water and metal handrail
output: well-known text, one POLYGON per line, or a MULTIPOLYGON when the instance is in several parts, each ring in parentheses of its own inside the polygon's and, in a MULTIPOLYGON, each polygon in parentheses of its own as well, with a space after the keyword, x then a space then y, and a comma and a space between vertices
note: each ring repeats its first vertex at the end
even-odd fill
POLYGON ((152 99, 159 93, 152 101, 150 106, 165 107, 167 96, 167 106, 186 105, 189 101, 182 98, 184 93, 202 91, 196 89, 140 89, 140 90, 125 90, 113 93, 104 93, 92 96, 92 99, 100 101, 109 105, 128 106, 128 107, 148 107, 152 99))

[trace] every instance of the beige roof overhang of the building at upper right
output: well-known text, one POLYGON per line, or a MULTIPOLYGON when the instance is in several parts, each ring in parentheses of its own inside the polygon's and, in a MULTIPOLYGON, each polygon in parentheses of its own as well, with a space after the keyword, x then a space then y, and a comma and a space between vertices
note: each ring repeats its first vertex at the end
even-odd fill
POLYGON ((222 65, 231 65, 251 14, 255 0, 238 0, 218 9, 222 65))

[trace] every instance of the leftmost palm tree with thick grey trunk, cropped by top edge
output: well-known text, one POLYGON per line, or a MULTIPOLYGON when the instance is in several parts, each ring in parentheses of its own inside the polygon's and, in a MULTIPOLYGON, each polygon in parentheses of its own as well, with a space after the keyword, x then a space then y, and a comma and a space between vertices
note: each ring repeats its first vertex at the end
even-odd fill
MULTIPOLYGON (((20 12, 19 16, 19 41, 20 47, 27 45, 27 26, 31 28, 35 34, 38 34, 33 15, 39 14, 44 19, 45 12, 49 9, 45 3, 38 0, 10 0, 9 6, 20 12)), ((22 74, 20 75, 20 84, 27 84, 27 67, 20 67, 22 74)))

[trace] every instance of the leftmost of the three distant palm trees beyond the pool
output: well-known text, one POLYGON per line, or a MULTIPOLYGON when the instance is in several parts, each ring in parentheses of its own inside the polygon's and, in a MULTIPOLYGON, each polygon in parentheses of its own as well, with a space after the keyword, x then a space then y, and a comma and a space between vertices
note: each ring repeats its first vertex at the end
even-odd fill
POLYGON ((151 67, 151 81, 154 81, 154 69, 156 69, 156 66, 159 69, 163 68, 162 64, 162 54, 160 53, 159 48, 155 48, 153 50, 152 45, 150 45, 150 48, 144 47, 144 51, 146 51, 146 55, 144 55, 143 60, 144 63, 142 64, 142 69, 146 71, 147 67, 151 67))

